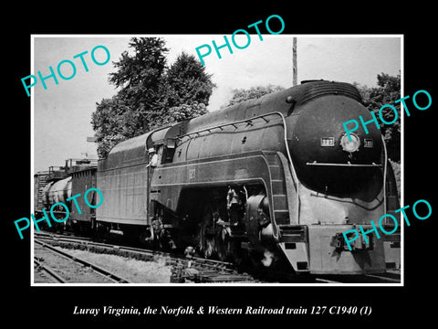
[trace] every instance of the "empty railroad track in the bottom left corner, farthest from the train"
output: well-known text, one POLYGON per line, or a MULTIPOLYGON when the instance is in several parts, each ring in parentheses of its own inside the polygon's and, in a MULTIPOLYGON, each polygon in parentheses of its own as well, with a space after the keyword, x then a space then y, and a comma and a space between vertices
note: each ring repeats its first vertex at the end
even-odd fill
MULTIPOLYGON (((121 278, 119 275, 97 264, 73 256, 61 249, 57 249, 41 239, 34 239, 34 241, 42 249, 48 250, 48 252, 56 255, 56 260, 48 260, 50 256, 47 255, 47 252, 46 254, 43 253, 44 256, 35 257, 34 264, 36 265, 36 271, 44 271, 50 279, 57 283, 83 282, 84 280, 93 283, 130 283, 130 281, 121 278), (45 264, 46 260, 51 261, 51 264, 45 264)), ((42 253, 39 251, 38 254, 41 255, 42 253)), ((47 275, 43 274, 42 276, 47 277, 47 275)))

